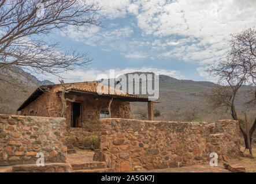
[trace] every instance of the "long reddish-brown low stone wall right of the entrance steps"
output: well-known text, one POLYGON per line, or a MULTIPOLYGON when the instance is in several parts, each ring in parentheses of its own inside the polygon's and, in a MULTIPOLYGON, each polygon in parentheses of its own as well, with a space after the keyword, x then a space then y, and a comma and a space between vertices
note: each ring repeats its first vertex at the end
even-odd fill
POLYGON ((101 149, 94 160, 104 160, 117 172, 168 168, 209 162, 239 154, 239 124, 232 120, 207 122, 103 119, 101 149))

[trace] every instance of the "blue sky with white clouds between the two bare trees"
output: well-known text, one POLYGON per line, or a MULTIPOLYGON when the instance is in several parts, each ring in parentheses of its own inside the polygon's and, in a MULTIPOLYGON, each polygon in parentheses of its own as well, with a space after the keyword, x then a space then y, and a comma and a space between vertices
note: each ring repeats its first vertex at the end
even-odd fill
MULTIPOLYGON (((88 0, 91 2, 92 0, 88 0)), ((99 0, 96 0, 99 1, 99 0)), ((87 68, 65 74, 65 82, 153 71, 177 79, 214 81, 207 65, 225 57, 231 33, 256 26, 255 0, 103 0, 102 27, 54 34, 65 47, 89 52, 87 68)), ((51 81, 58 82, 57 78, 51 81)))

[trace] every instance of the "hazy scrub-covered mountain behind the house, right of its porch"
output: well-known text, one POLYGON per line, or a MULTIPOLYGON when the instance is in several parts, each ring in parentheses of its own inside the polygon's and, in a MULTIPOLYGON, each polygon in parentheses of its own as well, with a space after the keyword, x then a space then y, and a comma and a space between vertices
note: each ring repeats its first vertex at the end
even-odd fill
MULTIPOLYGON (((131 74, 142 74, 133 72, 131 74)), ((127 74, 125 74, 127 75, 127 74)), ((206 100, 206 95, 215 86, 215 83, 206 81, 179 80, 166 75, 159 75, 159 103, 154 103, 154 109, 161 112, 156 120, 166 121, 216 121, 231 119, 227 109, 212 109, 206 100)), ((250 99, 248 94, 253 90, 250 86, 243 86, 236 99, 235 105, 240 117, 246 111, 253 120, 256 109, 246 109, 244 103, 250 99)), ((133 118, 147 118, 147 104, 132 102, 133 118)))

